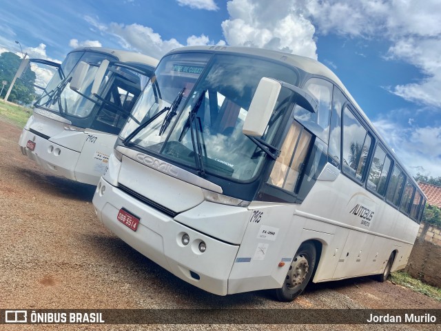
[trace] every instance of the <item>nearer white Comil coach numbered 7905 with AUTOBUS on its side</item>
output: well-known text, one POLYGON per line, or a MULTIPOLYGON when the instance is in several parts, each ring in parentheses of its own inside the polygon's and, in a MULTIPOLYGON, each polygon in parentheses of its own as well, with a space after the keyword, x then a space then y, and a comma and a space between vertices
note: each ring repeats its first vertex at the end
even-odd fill
POLYGON ((94 207, 188 283, 220 295, 275 289, 291 301, 311 279, 384 281, 407 264, 426 198, 317 61, 174 50, 133 116, 141 125, 121 130, 94 207))

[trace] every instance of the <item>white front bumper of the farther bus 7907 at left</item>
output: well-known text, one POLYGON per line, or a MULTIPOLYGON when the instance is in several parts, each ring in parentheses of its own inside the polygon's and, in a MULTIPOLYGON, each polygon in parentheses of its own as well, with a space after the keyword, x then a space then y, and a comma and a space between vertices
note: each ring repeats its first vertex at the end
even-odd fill
POLYGON ((21 132, 19 145, 23 155, 36 161, 45 170, 76 181, 74 170, 79 152, 53 143, 26 129, 21 132), (28 141, 35 144, 34 150, 26 147, 28 141))

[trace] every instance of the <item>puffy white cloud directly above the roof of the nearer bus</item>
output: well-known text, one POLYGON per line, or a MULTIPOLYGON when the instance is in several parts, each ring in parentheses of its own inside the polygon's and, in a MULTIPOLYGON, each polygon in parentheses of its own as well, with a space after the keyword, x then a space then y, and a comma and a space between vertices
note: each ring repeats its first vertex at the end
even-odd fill
POLYGON ((232 0, 222 29, 231 46, 281 50, 317 59, 315 28, 296 1, 232 0), (270 7, 270 8, 269 8, 270 7))

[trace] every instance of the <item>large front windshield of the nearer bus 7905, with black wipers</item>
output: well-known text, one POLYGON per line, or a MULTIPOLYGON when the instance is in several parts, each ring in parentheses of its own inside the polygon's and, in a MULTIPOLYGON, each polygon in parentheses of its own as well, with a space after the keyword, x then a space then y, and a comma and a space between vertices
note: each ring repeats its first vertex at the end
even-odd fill
MULTIPOLYGON (((232 54, 173 54, 161 61, 155 74, 121 138, 199 173, 236 181, 254 178, 265 159, 263 150, 242 132, 260 79, 292 85, 299 81, 298 74, 283 65, 232 54), (145 128, 134 131, 139 124, 145 128)), ((279 113, 276 106, 263 136, 267 143, 280 125, 279 113)))

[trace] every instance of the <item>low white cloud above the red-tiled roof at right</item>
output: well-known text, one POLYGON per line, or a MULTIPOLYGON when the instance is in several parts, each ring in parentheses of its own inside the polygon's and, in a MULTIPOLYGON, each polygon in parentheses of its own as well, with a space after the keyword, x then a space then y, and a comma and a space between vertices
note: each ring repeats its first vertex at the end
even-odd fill
POLYGON ((374 125, 413 175, 441 176, 441 127, 403 128, 389 119, 374 125))

